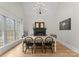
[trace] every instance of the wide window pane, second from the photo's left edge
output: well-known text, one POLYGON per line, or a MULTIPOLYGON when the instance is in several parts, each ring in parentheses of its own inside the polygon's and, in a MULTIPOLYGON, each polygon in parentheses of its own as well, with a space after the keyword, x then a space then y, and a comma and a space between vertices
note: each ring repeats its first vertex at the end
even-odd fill
POLYGON ((7 43, 12 42, 15 39, 13 19, 6 18, 6 33, 7 33, 7 43))

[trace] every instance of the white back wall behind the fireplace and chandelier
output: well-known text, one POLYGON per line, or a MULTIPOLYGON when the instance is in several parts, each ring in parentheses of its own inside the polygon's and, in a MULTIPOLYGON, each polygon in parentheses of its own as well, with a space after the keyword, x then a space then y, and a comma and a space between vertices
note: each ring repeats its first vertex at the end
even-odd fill
POLYGON ((29 34, 33 34, 33 23, 35 21, 45 21, 46 23, 46 28, 47 28, 47 33, 55 33, 56 30, 56 21, 55 21, 55 13, 56 13, 56 8, 58 3, 57 2, 52 2, 52 3, 44 3, 46 8, 48 9, 47 14, 43 14, 41 16, 36 16, 33 7, 35 6, 36 3, 32 2, 25 2, 23 3, 24 5, 24 10, 25 10, 25 16, 26 20, 25 22, 25 29, 29 32, 29 34))

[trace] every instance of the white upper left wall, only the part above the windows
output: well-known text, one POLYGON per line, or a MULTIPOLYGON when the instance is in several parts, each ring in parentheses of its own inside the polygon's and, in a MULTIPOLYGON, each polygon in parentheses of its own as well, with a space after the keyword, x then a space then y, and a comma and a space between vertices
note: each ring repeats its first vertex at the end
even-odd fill
POLYGON ((18 2, 0 2, 0 14, 11 18, 24 18, 22 5, 18 2))

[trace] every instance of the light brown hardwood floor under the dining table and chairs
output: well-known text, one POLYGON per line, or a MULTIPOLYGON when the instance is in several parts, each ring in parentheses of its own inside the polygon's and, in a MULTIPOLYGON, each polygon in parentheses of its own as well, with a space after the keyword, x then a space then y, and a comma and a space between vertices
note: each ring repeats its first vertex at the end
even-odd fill
POLYGON ((46 53, 42 53, 41 50, 38 50, 36 54, 32 54, 30 50, 27 51, 26 54, 22 52, 22 44, 17 45, 13 49, 9 50, 1 57, 76 57, 79 56, 76 52, 68 49, 67 47, 63 46, 59 42, 57 42, 57 52, 52 53, 51 50, 47 50, 46 53))

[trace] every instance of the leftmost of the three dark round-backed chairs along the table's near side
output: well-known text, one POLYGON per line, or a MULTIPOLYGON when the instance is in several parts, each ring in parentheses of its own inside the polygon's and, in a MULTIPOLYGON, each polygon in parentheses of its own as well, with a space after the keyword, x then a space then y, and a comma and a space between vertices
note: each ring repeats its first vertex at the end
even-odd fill
POLYGON ((26 37, 26 49, 25 49, 25 53, 27 51, 27 49, 31 49, 32 53, 33 53, 33 48, 34 48, 34 41, 32 37, 26 37))

